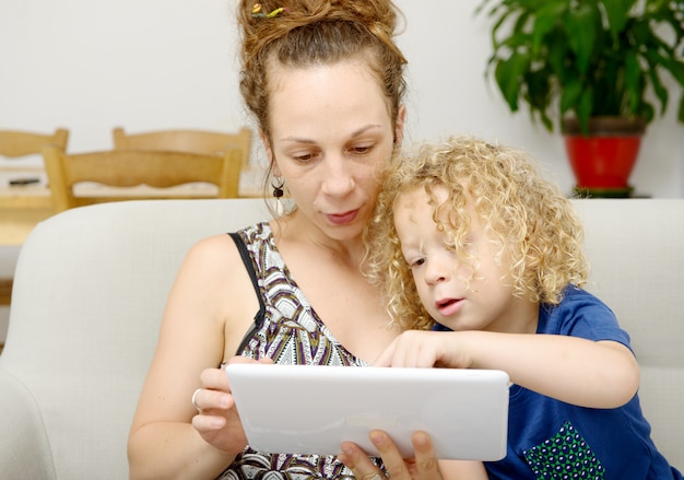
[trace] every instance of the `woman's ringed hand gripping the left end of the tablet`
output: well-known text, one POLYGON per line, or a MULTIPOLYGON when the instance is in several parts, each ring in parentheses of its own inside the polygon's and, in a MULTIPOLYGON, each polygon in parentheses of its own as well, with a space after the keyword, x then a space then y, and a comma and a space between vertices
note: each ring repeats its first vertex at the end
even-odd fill
MULTIPOLYGON (((257 362, 244 356, 234 356, 228 363, 272 363, 270 359, 257 362)), ((198 414, 192 426, 207 443, 215 448, 237 455, 247 445, 243 423, 235 407, 228 377, 223 368, 207 368, 200 375, 202 388, 193 397, 198 414)))

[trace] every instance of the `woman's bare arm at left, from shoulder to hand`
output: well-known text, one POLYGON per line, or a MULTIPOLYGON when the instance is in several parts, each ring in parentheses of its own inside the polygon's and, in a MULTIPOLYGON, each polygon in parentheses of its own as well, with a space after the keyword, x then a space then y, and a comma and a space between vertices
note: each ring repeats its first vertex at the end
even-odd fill
POLYGON ((229 236, 208 238, 189 251, 169 294, 133 418, 131 479, 215 478, 244 448, 227 378, 216 367, 233 354, 258 309, 229 236), (208 367, 213 368, 204 372, 208 367), (197 388, 209 389, 200 403, 208 414, 193 420, 197 388), (222 423, 221 434, 207 434, 212 422, 222 423))

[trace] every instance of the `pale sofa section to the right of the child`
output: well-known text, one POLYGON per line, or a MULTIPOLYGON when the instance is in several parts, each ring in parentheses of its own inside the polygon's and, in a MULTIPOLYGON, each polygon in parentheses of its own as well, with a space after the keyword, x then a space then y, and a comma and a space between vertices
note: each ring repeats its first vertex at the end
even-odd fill
POLYGON ((586 288, 629 333, 652 437, 684 469, 684 199, 575 203, 592 266, 586 288))

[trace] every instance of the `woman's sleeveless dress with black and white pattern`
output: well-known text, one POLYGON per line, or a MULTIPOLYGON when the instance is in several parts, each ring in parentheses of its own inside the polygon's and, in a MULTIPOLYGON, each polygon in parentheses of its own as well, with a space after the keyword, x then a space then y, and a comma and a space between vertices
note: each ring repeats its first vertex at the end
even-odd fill
MULTIPOLYGON (((270 358, 281 364, 367 366, 340 344, 318 318, 278 253, 268 223, 229 235, 240 251, 260 304, 255 323, 238 348, 239 354, 270 358)), ((381 467, 379 458, 373 461, 381 467)), ((334 456, 266 454, 247 446, 217 480, 353 478, 353 472, 334 456)))

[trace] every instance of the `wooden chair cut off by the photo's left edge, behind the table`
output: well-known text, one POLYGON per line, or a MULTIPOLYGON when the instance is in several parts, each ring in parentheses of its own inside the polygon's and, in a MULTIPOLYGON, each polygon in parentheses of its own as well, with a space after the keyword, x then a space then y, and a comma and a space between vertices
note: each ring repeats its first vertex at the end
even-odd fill
MULTIPOLYGON (((24 130, 0 130, 0 156, 15 159, 40 154, 43 148, 54 144, 67 149, 69 130, 58 128, 52 134, 35 133, 24 130)), ((12 278, 0 278, 0 305, 10 305, 12 298, 12 278)))

